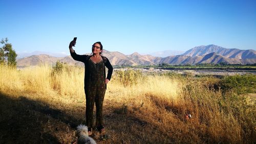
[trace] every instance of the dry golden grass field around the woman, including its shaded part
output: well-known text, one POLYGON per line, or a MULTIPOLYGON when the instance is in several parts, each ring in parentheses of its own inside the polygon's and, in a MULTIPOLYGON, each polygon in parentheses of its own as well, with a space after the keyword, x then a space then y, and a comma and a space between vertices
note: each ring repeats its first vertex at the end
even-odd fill
MULTIPOLYGON (((85 123, 84 69, 0 66, 0 143, 72 143, 85 123)), ((115 71, 97 143, 255 143, 255 101, 218 79, 115 71), (191 118, 186 119, 185 114, 191 118)))

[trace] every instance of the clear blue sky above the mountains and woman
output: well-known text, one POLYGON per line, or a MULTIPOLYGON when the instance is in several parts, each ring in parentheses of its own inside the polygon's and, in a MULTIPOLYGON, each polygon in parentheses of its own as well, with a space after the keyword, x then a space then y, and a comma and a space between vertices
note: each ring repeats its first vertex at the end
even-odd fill
POLYGON ((16 52, 78 54, 101 41, 123 54, 216 44, 256 49, 256 1, 14 1, 0 0, 0 38, 16 52))

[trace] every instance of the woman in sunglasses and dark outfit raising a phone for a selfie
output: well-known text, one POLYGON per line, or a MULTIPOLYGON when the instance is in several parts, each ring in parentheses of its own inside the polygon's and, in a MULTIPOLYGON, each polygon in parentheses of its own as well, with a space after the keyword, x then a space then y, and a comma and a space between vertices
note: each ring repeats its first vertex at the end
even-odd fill
POLYGON ((106 84, 111 79, 113 67, 108 58, 101 56, 102 44, 95 42, 92 45, 92 56, 77 55, 72 46, 76 41, 71 41, 69 45, 70 54, 74 60, 81 61, 85 65, 84 92, 86 93, 86 123, 89 135, 93 128, 93 108, 96 105, 96 128, 100 133, 105 133, 102 118, 102 106, 106 90, 106 84), (105 74, 105 66, 108 67, 108 76, 105 74))

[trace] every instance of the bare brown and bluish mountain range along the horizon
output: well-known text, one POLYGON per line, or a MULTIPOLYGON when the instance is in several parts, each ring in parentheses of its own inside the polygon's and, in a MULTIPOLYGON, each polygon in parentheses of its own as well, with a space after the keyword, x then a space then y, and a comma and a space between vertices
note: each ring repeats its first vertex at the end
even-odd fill
MULTIPOLYGON (((86 54, 91 55, 91 54, 86 54)), ((154 57, 152 55, 141 55, 133 53, 124 55, 120 52, 110 52, 103 50, 103 56, 106 56, 112 65, 157 65, 160 63, 168 63, 172 65, 178 64, 200 64, 200 63, 229 63, 229 64, 254 64, 256 63, 255 50, 239 50, 226 49, 218 45, 201 45, 186 51, 181 55, 168 57, 154 57)), ((56 61, 64 62, 70 65, 82 65, 82 62, 73 60, 71 56, 53 57, 49 55, 33 55, 17 60, 18 67, 26 67, 47 63, 54 65, 56 61)))

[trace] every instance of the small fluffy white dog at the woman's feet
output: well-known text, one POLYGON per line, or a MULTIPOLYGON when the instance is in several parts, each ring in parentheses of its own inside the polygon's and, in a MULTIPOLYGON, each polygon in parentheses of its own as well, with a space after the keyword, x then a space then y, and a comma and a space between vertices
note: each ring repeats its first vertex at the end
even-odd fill
POLYGON ((78 144, 96 144, 96 141, 88 136, 88 127, 84 125, 77 126, 76 131, 78 144))

